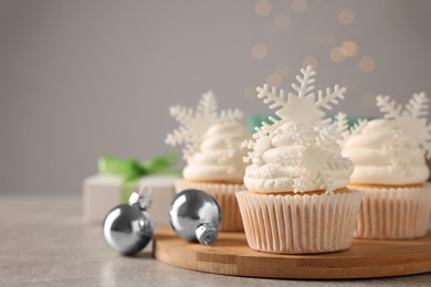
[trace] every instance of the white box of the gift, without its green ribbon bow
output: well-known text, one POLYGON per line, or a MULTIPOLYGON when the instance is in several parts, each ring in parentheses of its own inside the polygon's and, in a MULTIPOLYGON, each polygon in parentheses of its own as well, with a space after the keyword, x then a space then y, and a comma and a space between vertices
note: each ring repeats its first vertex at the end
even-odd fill
MULTIPOLYGON (((178 177, 147 176, 138 181, 138 187, 151 189, 151 205, 148 212, 155 227, 169 224, 169 204, 175 195, 174 183, 178 177)), ((83 182, 84 221, 101 224, 107 212, 119 204, 123 177, 95 174, 83 182)))

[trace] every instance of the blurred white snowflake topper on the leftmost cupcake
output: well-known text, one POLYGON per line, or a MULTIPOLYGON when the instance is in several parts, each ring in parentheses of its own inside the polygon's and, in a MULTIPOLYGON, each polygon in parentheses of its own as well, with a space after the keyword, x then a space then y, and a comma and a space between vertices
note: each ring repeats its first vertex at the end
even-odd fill
POLYGON ((210 91, 202 94, 196 108, 172 106, 169 114, 180 126, 168 134, 165 142, 171 146, 185 144, 183 158, 188 159, 198 149, 204 132, 214 124, 235 123, 241 120, 243 113, 239 109, 221 110, 218 113, 216 95, 210 91))

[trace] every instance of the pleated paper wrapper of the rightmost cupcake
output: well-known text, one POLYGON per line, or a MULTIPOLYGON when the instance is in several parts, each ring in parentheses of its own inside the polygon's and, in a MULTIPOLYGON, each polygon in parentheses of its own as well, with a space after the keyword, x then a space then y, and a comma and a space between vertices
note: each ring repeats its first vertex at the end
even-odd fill
POLYGON ((423 188, 364 188, 355 237, 406 240, 425 235, 431 184, 423 188))

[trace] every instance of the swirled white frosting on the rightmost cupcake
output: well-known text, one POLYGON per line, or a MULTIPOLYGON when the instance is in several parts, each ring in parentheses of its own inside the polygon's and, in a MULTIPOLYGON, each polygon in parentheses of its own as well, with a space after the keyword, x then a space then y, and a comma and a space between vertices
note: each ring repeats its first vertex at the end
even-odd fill
POLYGON ((403 185, 429 177, 418 142, 387 119, 370 120, 347 139, 343 152, 355 162, 351 183, 403 185))

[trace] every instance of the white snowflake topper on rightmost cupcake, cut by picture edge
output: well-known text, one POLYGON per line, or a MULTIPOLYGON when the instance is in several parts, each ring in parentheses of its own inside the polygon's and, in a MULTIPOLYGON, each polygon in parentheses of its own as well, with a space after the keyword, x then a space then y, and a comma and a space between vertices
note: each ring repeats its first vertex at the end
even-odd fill
POLYGON ((402 105, 397 105, 396 100, 389 96, 377 96, 377 107, 385 115, 385 118, 393 123, 420 145, 428 158, 431 158, 431 125, 427 124, 429 98, 425 93, 413 94, 410 100, 402 105))

